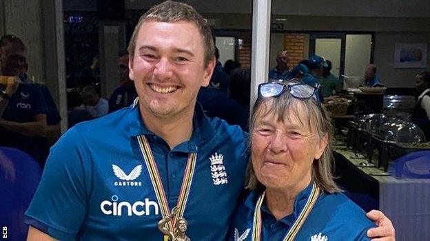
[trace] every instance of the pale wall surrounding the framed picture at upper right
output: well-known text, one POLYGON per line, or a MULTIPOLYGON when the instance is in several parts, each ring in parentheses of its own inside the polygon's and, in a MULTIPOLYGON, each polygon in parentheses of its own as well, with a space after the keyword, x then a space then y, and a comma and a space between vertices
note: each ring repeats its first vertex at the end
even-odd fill
POLYGON ((414 87, 415 76, 430 68, 430 32, 377 32, 374 63, 382 83, 389 87, 414 87), (396 69, 393 67, 396 43, 427 43, 427 68, 396 69))

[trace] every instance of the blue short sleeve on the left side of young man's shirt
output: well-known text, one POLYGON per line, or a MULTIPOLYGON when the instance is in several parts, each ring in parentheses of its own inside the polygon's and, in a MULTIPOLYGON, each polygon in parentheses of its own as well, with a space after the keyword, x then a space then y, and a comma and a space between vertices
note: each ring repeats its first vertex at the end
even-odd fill
POLYGON ((41 182, 25 212, 27 224, 58 240, 74 240, 85 218, 89 156, 76 127, 52 147, 41 182))

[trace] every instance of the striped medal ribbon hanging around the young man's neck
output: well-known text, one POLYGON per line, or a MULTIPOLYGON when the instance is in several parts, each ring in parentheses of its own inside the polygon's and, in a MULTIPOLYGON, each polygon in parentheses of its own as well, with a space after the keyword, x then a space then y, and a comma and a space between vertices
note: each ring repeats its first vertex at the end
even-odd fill
MULTIPOLYGON (((150 149, 150 143, 148 143, 145 136, 141 135, 137 137, 139 141, 139 146, 141 147, 141 152, 143 159, 145 160, 146 167, 150 173, 150 178, 152 182, 152 187, 154 187, 155 195, 158 200, 158 205, 161 207, 161 213, 163 217, 170 214, 169 204, 167 202, 167 197, 163 188, 163 182, 161 182, 161 176, 156 167, 154 156, 150 149)), ((179 191, 178 203, 178 213, 170 222, 167 222, 167 226, 170 230, 174 230, 174 224, 176 220, 183 217, 185 212, 185 206, 187 205, 188 196, 190 195, 190 187, 192 184, 192 178, 194 176, 194 169, 196 167, 197 154, 191 153, 188 156, 187 166, 185 167, 185 173, 182 180, 181 191, 179 191)))

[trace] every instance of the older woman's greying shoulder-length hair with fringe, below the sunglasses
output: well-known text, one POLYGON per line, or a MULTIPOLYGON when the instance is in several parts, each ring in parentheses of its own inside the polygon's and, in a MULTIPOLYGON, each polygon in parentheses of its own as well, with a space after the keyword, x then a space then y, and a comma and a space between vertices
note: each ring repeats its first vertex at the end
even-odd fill
MULTIPOLYGON (((331 138, 333 136, 333 126, 331 119, 325 107, 320 105, 316 98, 307 98, 300 100, 291 96, 288 91, 285 91, 278 97, 257 98, 252 110, 251 119, 249 122, 249 133, 252 136, 254 132, 256 118, 258 116, 266 116, 273 114, 277 121, 284 121, 290 117, 290 113, 298 118, 301 125, 307 125, 310 131, 319 138, 324 138, 327 135, 327 147, 323 151, 323 155, 314 160, 312 164, 312 180, 316 182, 321 189, 328 193, 336 193, 341 189, 334 182, 332 168, 334 166, 333 156, 331 154, 331 138), (303 113, 300 113, 303 112, 303 113)), ((249 147, 252 145, 252 138, 249 138, 249 147)), ((257 189, 263 185, 257 180, 252 160, 249 161, 247 167, 247 189, 257 189)))

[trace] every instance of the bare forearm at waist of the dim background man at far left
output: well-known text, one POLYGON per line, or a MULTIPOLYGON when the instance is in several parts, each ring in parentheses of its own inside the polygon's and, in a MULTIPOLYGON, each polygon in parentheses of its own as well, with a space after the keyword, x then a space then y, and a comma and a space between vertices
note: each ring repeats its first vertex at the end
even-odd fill
POLYGON ((0 126, 23 136, 46 136, 46 114, 37 114, 34 116, 34 121, 25 123, 6 121, 0 118, 0 126))

